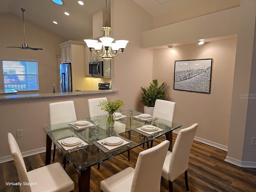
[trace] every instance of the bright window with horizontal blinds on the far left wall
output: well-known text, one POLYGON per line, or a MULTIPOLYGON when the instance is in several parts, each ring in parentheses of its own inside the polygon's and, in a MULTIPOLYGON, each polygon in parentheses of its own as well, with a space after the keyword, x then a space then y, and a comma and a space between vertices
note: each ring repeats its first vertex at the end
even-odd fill
POLYGON ((2 60, 4 91, 36 91, 38 86, 37 61, 2 60))

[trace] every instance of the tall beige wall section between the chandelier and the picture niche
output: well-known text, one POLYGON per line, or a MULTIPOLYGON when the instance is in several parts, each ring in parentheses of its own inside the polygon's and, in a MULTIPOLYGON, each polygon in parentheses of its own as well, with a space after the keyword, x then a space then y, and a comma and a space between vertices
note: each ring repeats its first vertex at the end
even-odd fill
POLYGON ((124 53, 114 58, 112 83, 125 108, 143 112, 140 87, 152 80, 153 51, 142 48, 142 32, 153 28, 153 17, 132 0, 111 0, 111 15, 111 36, 129 40, 124 53))

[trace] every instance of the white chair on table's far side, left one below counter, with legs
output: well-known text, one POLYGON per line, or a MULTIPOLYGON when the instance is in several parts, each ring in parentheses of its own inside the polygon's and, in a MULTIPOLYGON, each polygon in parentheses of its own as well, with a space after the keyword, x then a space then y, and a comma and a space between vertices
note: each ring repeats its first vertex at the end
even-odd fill
MULTIPOLYGON (((50 125, 76 121, 76 110, 74 106, 74 101, 61 101, 49 103, 49 112, 50 112, 50 125)), ((56 140, 67 138, 69 133, 62 131, 61 133, 54 133, 54 138, 56 140)), ((54 161, 56 152, 56 145, 54 144, 53 149, 53 157, 52 161, 54 161)), ((66 158, 64 157, 64 169, 66 168, 66 158)))

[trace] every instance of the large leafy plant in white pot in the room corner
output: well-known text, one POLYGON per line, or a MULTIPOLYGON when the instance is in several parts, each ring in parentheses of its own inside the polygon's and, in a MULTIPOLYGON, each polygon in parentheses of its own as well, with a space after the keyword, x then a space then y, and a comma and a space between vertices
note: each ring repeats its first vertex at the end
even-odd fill
POLYGON ((158 80, 152 80, 148 88, 141 87, 142 98, 141 102, 144 105, 144 113, 153 115, 155 102, 157 99, 166 99, 166 83, 163 82, 158 86, 158 80))

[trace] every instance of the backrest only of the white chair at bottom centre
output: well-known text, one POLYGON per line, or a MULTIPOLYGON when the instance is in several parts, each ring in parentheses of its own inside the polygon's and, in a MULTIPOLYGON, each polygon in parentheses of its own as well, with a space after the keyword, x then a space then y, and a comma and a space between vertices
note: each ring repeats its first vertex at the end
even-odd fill
POLYGON ((131 192, 160 192, 161 173, 169 148, 165 140, 139 153, 132 179, 131 192))

